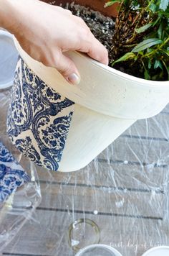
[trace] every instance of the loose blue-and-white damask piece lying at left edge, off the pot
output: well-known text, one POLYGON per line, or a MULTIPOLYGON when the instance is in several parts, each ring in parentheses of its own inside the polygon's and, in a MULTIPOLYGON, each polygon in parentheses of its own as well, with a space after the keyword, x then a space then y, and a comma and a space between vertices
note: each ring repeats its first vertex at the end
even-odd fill
POLYGON ((29 175, 0 142, 0 202, 5 201, 16 188, 28 181, 29 175))

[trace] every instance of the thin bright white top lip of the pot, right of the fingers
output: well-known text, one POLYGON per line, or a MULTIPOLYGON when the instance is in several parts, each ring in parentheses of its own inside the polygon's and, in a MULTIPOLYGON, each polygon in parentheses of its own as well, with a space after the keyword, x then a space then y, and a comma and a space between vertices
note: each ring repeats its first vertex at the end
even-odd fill
POLYGON ((102 64, 100 62, 98 62, 97 60, 94 60, 92 58, 90 58, 87 54, 85 53, 82 53, 82 52, 77 52, 75 51, 77 55, 79 55, 81 58, 86 58, 87 61, 90 61, 92 62, 93 65, 97 66, 98 68, 101 68, 102 70, 105 70, 105 72, 107 73, 110 73, 117 77, 122 77, 124 78, 125 80, 130 80, 130 81, 134 81, 134 82, 137 82, 137 83, 141 83, 140 86, 149 86, 150 88, 152 88, 152 86, 154 88, 160 88, 161 87, 164 87, 166 88, 166 86, 169 87, 169 81, 152 81, 152 80, 145 80, 144 78, 137 78, 136 76, 131 76, 127 73, 124 73, 120 70, 117 70, 115 68, 111 68, 110 66, 108 65, 105 65, 105 64, 102 64), (159 83, 163 83, 162 85, 159 85, 159 83))

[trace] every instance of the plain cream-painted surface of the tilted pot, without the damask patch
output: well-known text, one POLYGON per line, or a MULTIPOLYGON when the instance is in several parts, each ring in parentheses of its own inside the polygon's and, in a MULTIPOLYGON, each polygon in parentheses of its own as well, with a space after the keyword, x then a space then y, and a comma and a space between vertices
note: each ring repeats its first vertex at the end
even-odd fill
MULTIPOLYGON (((18 42, 16 47, 24 63, 37 78, 59 96, 74 103, 65 112, 67 115, 71 112, 72 115, 57 170, 74 171, 83 168, 137 119, 155 116, 169 102, 169 81, 145 81, 102 65, 87 55, 68 52, 67 55, 81 74, 79 85, 71 86, 56 69, 46 67, 27 55, 18 42)), ((20 134, 19 138, 25 138, 30 130, 20 134)), ((34 148, 39 147, 34 135, 32 143, 34 148)), ((49 168, 44 161, 42 165, 49 168)), ((54 170, 53 167, 50 169, 54 170)))

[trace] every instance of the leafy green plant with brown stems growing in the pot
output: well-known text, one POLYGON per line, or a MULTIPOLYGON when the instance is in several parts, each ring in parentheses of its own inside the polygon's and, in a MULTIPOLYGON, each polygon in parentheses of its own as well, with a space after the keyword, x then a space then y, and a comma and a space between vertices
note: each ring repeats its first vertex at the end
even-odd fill
POLYGON ((169 0, 110 0, 105 6, 115 3, 112 66, 125 62, 145 79, 169 80, 169 0))

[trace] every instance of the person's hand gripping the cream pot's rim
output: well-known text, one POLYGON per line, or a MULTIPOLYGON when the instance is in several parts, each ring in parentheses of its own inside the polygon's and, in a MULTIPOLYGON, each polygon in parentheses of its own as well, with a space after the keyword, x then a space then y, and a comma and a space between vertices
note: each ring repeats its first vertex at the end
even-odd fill
POLYGON ((86 52, 91 58, 108 64, 106 48, 72 12, 39 0, 4 1, 12 10, 9 30, 21 47, 35 60, 57 68, 69 83, 78 84, 80 75, 64 52, 86 52))

